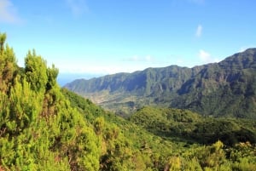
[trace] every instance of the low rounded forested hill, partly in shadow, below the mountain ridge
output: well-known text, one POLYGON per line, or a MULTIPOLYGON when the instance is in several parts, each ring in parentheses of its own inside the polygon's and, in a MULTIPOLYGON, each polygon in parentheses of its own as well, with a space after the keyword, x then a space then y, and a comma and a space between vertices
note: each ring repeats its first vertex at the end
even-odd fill
POLYGON ((201 117, 188 110, 149 106, 138 110, 130 120, 156 135, 191 143, 212 144, 218 140, 231 146, 247 141, 256 143, 255 120, 201 117))

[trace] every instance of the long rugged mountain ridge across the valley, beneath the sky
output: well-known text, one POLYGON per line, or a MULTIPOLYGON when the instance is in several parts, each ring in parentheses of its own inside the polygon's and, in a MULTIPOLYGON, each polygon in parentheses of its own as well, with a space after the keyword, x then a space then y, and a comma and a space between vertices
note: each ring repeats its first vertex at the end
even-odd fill
POLYGON ((256 48, 219 63, 79 79, 65 88, 123 116, 143 105, 160 105, 203 116, 256 118, 256 48))

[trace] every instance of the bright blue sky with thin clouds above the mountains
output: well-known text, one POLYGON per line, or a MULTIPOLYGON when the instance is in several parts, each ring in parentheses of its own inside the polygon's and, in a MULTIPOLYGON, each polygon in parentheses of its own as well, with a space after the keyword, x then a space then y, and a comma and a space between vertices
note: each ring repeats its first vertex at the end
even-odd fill
POLYGON ((20 66, 29 49, 61 73, 198 66, 256 47, 255 0, 0 0, 20 66))

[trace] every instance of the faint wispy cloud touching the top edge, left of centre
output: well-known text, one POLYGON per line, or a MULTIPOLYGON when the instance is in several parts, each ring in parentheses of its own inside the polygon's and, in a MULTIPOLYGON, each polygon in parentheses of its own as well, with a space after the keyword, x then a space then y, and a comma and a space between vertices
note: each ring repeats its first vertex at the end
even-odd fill
POLYGON ((66 0, 67 7, 71 9, 73 15, 79 16, 88 12, 88 6, 85 0, 66 0))

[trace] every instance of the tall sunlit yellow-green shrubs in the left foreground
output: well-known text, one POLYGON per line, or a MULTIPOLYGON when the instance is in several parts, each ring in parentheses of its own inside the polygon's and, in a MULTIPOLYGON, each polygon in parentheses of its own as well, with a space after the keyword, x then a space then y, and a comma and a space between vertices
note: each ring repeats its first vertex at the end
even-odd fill
POLYGON ((61 94, 55 66, 33 51, 23 71, 12 49, 1 47, 0 168, 98 170, 99 140, 61 94))

